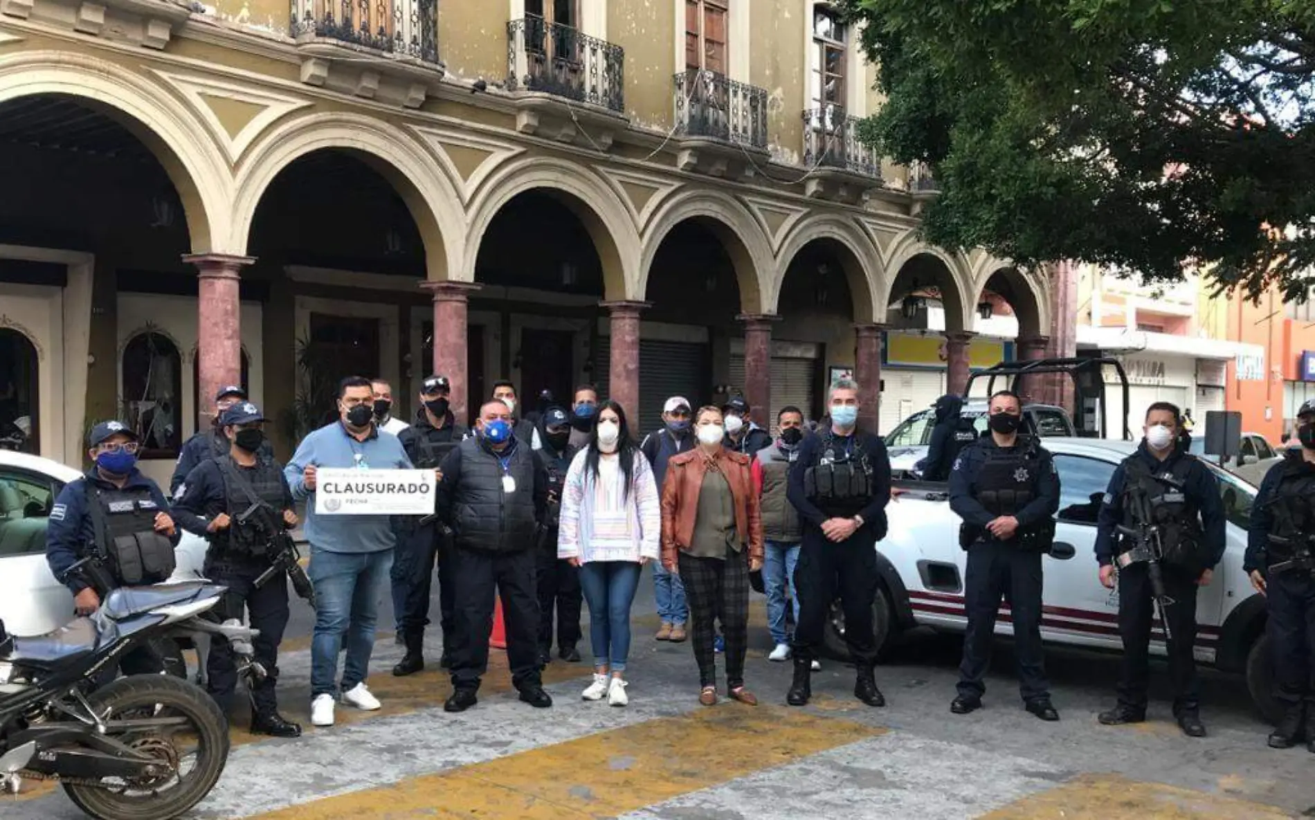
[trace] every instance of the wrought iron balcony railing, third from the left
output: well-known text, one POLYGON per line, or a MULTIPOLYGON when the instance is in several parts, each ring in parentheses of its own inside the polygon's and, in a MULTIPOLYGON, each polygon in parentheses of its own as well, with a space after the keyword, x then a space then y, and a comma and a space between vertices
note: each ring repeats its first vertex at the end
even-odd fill
POLYGON ((767 91, 717 71, 677 74, 676 133, 767 148, 767 91))

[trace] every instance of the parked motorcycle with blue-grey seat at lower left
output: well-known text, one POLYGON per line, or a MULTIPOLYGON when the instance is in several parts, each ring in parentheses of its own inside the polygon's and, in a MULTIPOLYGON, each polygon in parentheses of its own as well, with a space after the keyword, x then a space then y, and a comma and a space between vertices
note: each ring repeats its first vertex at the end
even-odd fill
POLYGON ((99 683, 139 645, 191 639, 204 652, 216 636, 233 645, 239 674, 264 678, 258 631, 201 618, 224 593, 204 580, 114 589, 92 615, 36 637, 0 623, 0 794, 24 778, 58 781, 99 820, 168 820, 200 803, 229 756, 214 700, 167 674, 99 683))

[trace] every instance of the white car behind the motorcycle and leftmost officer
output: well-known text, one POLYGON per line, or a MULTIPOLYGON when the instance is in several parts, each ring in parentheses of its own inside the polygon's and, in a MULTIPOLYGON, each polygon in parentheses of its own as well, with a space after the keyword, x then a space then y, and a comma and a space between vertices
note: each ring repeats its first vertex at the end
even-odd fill
MULTIPOLYGON (((74 597, 46 564, 46 524, 59 491, 80 476, 50 459, 0 449, 0 620, 13 635, 43 635, 72 620, 74 597)), ((199 578, 205 547, 184 532, 170 581, 199 578)))

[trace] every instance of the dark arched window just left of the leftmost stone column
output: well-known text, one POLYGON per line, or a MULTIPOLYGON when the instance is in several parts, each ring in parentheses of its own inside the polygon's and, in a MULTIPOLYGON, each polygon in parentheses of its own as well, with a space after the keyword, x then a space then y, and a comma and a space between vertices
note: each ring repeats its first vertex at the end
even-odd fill
POLYGON ((183 357, 164 334, 146 331, 124 347, 124 422, 143 459, 176 459, 183 444, 183 357))

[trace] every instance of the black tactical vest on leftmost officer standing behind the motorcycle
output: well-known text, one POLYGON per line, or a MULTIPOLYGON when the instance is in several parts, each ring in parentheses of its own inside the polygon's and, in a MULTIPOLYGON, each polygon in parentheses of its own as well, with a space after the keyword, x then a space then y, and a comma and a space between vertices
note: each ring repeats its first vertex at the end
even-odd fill
POLYGON ((159 583, 178 566, 174 544, 155 532, 162 512, 149 488, 103 488, 87 481, 96 549, 117 586, 159 583))

